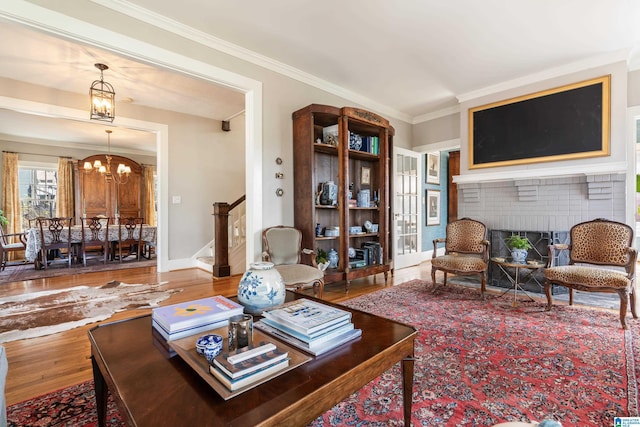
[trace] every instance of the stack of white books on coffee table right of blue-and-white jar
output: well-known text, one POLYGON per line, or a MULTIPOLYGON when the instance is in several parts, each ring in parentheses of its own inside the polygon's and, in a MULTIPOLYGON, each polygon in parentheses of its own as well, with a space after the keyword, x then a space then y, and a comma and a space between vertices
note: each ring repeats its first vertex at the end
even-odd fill
POLYGON ((254 326, 301 350, 319 356, 362 335, 351 313, 308 299, 265 310, 254 326))

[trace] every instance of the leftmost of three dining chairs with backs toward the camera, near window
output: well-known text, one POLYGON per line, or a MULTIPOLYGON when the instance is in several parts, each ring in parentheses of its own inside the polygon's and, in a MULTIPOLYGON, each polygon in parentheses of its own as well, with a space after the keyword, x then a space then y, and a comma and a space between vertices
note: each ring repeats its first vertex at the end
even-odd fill
MULTIPOLYGON (((40 263, 46 270, 48 265, 58 257, 65 260, 67 266, 71 268, 73 250, 71 249, 71 224, 73 218, 37 218, 40 229, 40 263), (66 255, 65 255, 66 251, 66 255)), ((36 260, 36 267, 38 260, 36 260)))

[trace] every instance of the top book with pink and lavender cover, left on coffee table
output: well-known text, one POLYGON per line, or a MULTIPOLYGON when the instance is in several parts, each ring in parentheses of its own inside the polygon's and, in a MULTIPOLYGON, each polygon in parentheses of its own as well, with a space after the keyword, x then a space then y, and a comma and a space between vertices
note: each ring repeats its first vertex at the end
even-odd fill
POLYGON ((222 295, 154 308, 151 317, 168 334, 228 320, 244 307, 222 295))

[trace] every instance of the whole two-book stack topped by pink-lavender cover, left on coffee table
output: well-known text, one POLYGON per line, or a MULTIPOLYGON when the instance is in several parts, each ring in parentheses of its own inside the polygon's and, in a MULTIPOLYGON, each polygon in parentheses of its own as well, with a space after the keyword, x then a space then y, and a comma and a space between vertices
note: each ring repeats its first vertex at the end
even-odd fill
POLYGON ((154 308, 154 333, 167 341, 227 326, 229 318, 244 307, 221 295, 154 308))

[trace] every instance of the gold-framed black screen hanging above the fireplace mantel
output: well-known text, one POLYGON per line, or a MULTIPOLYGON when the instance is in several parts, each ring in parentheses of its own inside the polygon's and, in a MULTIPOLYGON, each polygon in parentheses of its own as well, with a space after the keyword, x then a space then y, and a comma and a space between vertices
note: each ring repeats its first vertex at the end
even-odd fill
POLYGON ((469 109, 469 169, 610 155, 611 75, 469 109))

